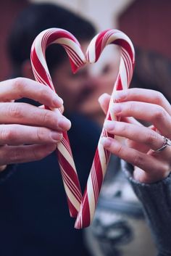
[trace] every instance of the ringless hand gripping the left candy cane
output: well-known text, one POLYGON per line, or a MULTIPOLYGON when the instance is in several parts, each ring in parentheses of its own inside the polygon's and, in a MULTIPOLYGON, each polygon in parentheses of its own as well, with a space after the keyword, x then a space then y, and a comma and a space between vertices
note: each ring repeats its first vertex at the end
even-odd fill
POLYGON ((27 78, 0 83, 0 165, 40 160, 56 149, 70 121, 59 111, 44 110, 26 103, 30 98, 51 108, 62 108, 62 99, 48 86, 27 78))

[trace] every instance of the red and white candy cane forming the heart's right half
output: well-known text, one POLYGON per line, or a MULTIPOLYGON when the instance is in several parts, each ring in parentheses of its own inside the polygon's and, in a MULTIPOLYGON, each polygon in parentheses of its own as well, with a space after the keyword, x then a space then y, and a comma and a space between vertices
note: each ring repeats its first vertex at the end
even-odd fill
MULTIPOLYGON (((89 63, 96 62, 104 47, 109 44, 121 46, 120 69, 117 75, 117 80, 114 83, 112 97, 109 102, 109 110, 106 120, 114 120, 117 117, 111 111, 111 106, 114 100, 114 93, 117 90, 128 88, 133 75, 135 63, 135 52, 130 38, 120 30, 105 30, 95 36, 88 46, 87 59, 89 63)), ((93 220, 93 215, 96 209, 97 200, 101 190, 101 185, 104 181, 104 176, 107 170, 110 154, 101 145, 101 137, 112 136, 105 129, 101 131, 101 136, 96 149, 95 157, 91 167, 91 172, 88 176, 88 182, 84 191, 83 199, 80 205, 80 211, 75 222, 75 228, 84 228, 89 226, 93 220)))

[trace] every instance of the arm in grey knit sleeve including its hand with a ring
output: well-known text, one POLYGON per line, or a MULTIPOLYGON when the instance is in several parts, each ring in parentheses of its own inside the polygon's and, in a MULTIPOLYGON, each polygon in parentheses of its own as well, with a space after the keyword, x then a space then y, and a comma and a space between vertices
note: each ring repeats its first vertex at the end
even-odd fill
MULTIPOLYGON (((107 110, 108 97, 100 99, 104 110, 107 110)), ((119 103, 114 104, 113 110, 122 122, 107 121, 104 127, 126 140, 121 143, 107 138, 101 143, 133 166, 132 170, 128 168, 127 176, 143 204, 159 255, 168 256, 171 253, 171 146, 162 152, 155 150, 164 143, 162 135, 171 138, 171 107, 162 94, 145 89, 128 89, 125 94, 120 91, 117 100, 119 103), (152 123, 157 131, 132 117, 152 123)))

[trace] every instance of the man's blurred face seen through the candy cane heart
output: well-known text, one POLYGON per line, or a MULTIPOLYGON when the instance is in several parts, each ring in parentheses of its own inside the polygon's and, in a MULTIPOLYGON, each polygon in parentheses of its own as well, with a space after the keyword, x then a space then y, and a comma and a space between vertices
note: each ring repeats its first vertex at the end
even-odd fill
MULTIPOLYGON (((84 42, 81 46, 85 52, 88 43, 84 42)), ((80 105, 92 93, 94 85, 89 69, 90 66, 87 65, 73 75, 69 59, 64 59, 61 65, 54 70, 52 80, 57 94, 64 100, 66 112, 79 112, 80 105)))

